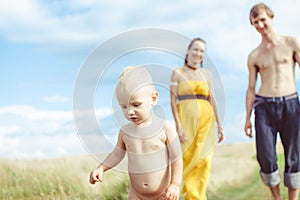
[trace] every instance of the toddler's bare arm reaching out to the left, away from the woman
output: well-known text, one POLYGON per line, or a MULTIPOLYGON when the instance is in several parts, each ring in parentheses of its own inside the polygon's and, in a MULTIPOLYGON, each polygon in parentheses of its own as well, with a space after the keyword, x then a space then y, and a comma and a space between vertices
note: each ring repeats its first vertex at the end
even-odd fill
POLYGON ((90 183, 102 182, 102 175, 105 171, 115 167, 124 158, 126 153, 125 144, 122 139, 122 131, 119 132, 118 141, 114 150, 105 158, 105 160, 90 174, 90 183))

